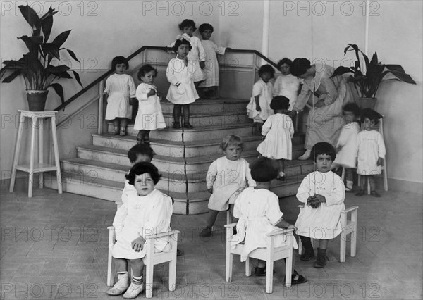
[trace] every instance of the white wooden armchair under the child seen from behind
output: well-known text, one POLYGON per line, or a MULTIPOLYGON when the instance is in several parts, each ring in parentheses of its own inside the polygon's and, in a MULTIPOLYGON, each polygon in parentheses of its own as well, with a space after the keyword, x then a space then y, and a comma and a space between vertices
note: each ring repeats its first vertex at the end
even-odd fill
MULTIPOLYGON (((231 249, 231 239, 233 237, 233 227, 236 223, 225 225, 226 227, 226 282, 232 281, 233 254, 240 255, 243 252, 244 244, 236 245, 231 249)), ((285 286, 290 287, 293 268, 293 229, 277 229, 267 234, 267 247, 255 249, 250 253, 245 261, 245 275, 251 276, 250 258, 266 261, 266 293, 271 293, 273 288, 274 261, 286 258, 285 263, 285 286), (286 246, 274 247, 274 237, 286 235, 286 246)))

